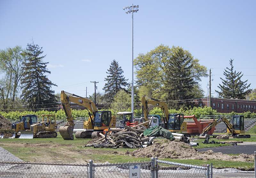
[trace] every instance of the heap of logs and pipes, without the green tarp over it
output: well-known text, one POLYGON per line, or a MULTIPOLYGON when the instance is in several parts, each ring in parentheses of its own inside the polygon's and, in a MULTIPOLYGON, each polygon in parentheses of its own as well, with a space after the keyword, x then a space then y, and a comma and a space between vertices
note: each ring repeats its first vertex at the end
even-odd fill
MULTIPOLYGON (((105 135, 99 133, 102 137, 85 145, 86 147, 93 146, 94 148, 140 148, 153 144, 153 139, 156 137, 144 136, 146 130, 144 126, 149 121, 129 127, 124 125, 124 129, 108 128, 105 135)), ((172 133, 175 139, 189 144, 189 138, 185 134, 172 133)))

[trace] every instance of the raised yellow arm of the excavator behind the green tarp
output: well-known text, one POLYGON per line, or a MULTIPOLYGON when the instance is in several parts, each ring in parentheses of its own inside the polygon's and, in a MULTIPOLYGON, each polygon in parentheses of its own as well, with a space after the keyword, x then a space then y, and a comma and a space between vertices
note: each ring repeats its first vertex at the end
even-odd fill
POLYGON ((164 103, 163 101, 159 101, 153 98, 149 98, 147 96, 142 96, 142 111, 143 111, 143 115, 144 115, 144 122, 148 121, 148 115, 149 115, 149 109, 148 109, 148 105, 151 106, 155 106, 155 107, 159 107, 163 113, 164 113, 164 125, 165 128, 168 127, 168 116, 169 116, 169 111, 167 108, 166 103, 164 103), (148 99, 146 99, 148 98, 148 99))

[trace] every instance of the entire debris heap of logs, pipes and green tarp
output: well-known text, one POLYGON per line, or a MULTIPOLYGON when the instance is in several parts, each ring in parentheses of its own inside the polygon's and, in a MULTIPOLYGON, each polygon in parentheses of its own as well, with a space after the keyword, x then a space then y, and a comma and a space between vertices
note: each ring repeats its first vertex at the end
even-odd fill
POLYGON ((190 143, 185 134, 172 133, 160 126, 146 129, 141 123, 133 127, 124 125, 123 129, 108 128, 105 134, 100 133, 102 137, 87 143, 86 147, 94 148, 141 148, 152 145, 156 137, 164 137, 167 139, 177 139, 185 143, 190 143), (146 135, 144 135, 146 134, 146 135), (175 135, 175 136, 174 136, 175 135))

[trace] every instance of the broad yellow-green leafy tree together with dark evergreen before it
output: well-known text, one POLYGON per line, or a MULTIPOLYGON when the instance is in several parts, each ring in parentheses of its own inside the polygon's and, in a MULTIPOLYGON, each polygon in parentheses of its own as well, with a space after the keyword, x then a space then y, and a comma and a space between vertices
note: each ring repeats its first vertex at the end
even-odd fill
MULTIPOLYGON (((201 77, 207 77, 206 67, 199 64, 189 51, 182 47, 161 44, 147 54, 135 59, 136 84, 139 95, 162 101, 179 100, 173 107, 184 105, 185 99, 204 96, 198 85, 201 77), (199 87, 199 88, 198 88, 199 87)), ((191 103, 185 103, 185 106, 191 103)))

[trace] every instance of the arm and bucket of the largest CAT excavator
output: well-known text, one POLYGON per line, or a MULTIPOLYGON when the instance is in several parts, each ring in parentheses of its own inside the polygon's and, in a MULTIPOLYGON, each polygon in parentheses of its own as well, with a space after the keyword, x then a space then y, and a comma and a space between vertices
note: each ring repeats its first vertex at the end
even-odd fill
MULTIPOLYGON (((98 110, 96 105, 89 98, 83 98, 81 96, 77 96, 75 94, 71 94, 62 90, 61 103, 67 116, 66 119, 68 120, 66 125, 60 126, 60 129, 59 129, 60 135, 64 140, 74 139, 73 130, 74 130, 75 124, 74 124, 74 119, 73 119, 71 107, 70 107, 71 102, 86 107, 89 111, 91 111, 93 117, 95 117, 95 111, 98 110)), ((91 116, 89 117, 89 123, 92 125, 92 127, 93 127, 93 117, 91 116)))

